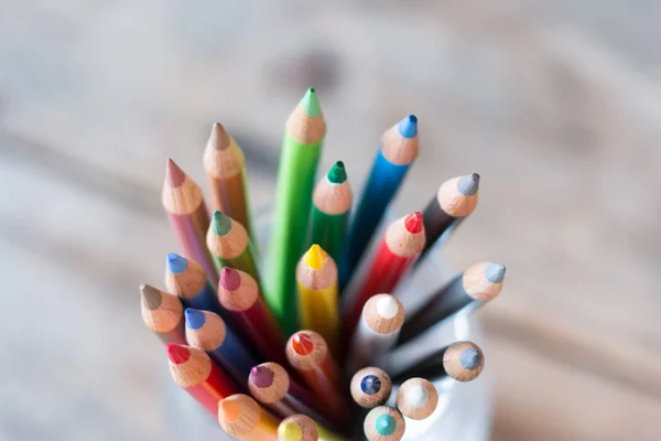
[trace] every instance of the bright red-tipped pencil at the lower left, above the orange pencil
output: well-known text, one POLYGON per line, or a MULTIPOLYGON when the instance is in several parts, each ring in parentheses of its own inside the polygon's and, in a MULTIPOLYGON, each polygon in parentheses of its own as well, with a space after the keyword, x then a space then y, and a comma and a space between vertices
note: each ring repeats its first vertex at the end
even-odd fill
POLYGON ((218 401, 239 391, 232 379, 197 347, 170 343, 167 358, 174 381, 214 417, 218 415, 218 401))

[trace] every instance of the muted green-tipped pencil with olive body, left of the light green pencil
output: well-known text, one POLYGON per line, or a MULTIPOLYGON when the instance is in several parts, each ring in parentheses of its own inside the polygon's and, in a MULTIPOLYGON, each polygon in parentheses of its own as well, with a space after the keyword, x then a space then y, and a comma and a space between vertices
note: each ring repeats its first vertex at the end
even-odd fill
POLYGON ((218 272, 225 267, 248 272, 259 281, 257 252, 248 232, 231 217, 214 212, 207 232, 207 247, 218 272))

